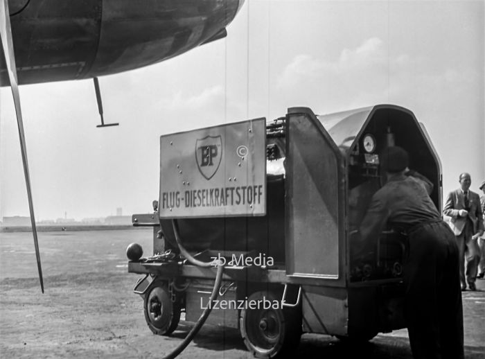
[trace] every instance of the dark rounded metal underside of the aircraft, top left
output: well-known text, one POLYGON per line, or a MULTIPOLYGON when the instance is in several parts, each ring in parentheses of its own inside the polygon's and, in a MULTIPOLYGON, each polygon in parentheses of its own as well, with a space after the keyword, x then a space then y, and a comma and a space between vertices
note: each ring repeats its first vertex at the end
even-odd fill
POLYGON ((93 78, 173 58, 223 37, 243 1, 8 0, 19 84, 93 78))

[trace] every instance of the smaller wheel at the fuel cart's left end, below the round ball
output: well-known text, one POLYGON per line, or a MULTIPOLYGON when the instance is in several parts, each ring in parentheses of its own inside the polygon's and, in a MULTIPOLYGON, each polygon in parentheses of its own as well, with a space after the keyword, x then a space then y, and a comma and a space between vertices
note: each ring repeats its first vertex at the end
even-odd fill
POLYGON ((170 299, 167 284, 154 283, 152 289, 145 295, 143 303, 145 320, 150 331, 157 335, 170 335, 180 320, 180 304, 170 299))

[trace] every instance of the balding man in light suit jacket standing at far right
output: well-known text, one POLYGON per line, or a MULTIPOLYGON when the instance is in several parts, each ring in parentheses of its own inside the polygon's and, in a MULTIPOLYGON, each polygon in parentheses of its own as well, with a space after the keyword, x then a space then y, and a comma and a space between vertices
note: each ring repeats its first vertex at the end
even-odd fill
POLYGON ((459 189, 448 193, 443 214, 451 217, 450 227, 457 238, 461 290, 466 290, 467 282, 470 290, 477 290, 475 280, 480 260, 477 239, 484 233, 482 207, 479 195, 470 191, 470 175, 461 173, 459 183, 459 189))

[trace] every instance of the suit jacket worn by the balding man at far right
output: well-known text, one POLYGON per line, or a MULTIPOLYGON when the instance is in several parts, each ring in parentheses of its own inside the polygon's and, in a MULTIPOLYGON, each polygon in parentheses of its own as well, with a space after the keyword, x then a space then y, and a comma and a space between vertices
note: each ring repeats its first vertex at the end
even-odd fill
POLYGON ((450 216, 450 227, 455 233, 455 236, 459 236, 463 231, 466 219, 470 218, 473 223, 473 234, 479 230, 484 230, 482 206, 480 205, 479 195, 475 192, 468 190, 468 216, 460 217, 458 211, 465 208, 465 195, 461 192, 461 189, 457 189, 448 193, 446 198, 443 214, 450 216))

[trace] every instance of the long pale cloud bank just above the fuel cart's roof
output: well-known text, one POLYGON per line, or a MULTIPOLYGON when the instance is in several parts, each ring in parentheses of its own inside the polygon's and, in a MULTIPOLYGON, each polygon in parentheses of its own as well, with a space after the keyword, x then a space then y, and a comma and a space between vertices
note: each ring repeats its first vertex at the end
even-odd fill
POLYGON ((459 64, 437 67, 435 58, 421 54, 389 54, 388 44, 371 37, 334 59, 295 55, 276 79, 276 88, 283 101, 322 106, 325 113, 376 103, 403 105, 416 96, 429 107, 446 105, 450 92, 475 88, 477 76, 476 70, 459 64))

